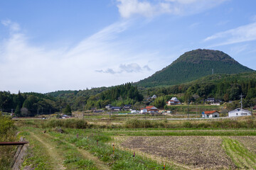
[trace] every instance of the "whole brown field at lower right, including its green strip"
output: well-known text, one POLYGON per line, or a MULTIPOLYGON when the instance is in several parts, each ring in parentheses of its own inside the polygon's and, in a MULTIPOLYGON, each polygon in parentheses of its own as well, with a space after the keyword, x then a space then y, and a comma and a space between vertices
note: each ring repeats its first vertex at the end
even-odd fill
POLYGON ((124 149, 167 160, 187 169, 255 169, 256 137, 117 137, 124 149))

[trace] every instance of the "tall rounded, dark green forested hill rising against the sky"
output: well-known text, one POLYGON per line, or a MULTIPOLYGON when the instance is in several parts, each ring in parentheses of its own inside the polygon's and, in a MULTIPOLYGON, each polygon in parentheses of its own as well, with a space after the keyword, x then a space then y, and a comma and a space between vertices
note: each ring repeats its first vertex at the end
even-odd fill
POLYGON ((210 75, 212 69, 218 74, 255 72, 224 52, 198 49, 185 52, 169 66, 135 84, 144 87, 182 84, 210 75))

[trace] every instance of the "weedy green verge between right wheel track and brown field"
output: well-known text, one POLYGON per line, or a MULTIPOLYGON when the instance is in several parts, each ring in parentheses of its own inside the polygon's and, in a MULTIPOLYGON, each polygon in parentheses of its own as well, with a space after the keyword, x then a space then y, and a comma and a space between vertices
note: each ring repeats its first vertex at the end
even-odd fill
MULTIPOLYGON (((157 162, 142 156, 132 157, 133 153, 123 151, 115 147, 113 154, 113 147, 107 142, 112 140, 112 137, 105 135, 100 131, 94 132, 84 130, 65 130, 66 134, 58 134, 57 132, 50 132, 50 135, 59 137, 70 143, 74 143, 77 147, 87 149, 102 162, 110 164, 111 169, 161 169, 162 165, 157 162), (76 137, 78 133, 79 137, 76 137), (87 139, 88 136, 88 139, 87 139), (98 140, 98 145, 97 145, 98 140)), ((174 166, 166 165, 166 169, 175 169, 174 166)))

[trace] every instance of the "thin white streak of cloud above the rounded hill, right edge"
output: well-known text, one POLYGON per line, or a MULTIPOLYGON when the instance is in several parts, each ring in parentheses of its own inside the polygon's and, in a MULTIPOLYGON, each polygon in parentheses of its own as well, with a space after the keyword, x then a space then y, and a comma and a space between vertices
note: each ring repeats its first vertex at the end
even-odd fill
POLYGON ((256 40, 256 23, 250 23, 231 30, 215 33, 204 41, 218 41, 212 47, 256 40))

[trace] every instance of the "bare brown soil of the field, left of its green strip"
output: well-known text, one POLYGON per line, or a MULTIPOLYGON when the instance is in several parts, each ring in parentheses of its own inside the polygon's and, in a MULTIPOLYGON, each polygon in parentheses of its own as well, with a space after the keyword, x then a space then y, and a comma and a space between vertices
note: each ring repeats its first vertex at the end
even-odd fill
POLYGON ((122 147, 139 150, 192 169, 235 169, 216 136, 126 137, 122 147))

